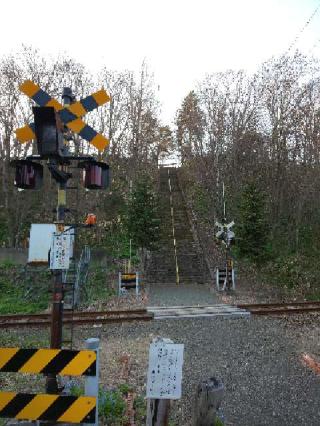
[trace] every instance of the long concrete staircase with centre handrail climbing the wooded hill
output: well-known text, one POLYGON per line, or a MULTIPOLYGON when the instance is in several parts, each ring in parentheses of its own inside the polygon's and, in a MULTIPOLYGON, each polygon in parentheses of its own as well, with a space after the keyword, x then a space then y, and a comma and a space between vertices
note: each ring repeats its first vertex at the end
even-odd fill
POLYGON ((180 284, 202 284, 204 260, 193 239, 177 169, 160 168, 159 175, 162 239, 159 250, 151 255, 147 281, 175 283, 178 275, 180 284))

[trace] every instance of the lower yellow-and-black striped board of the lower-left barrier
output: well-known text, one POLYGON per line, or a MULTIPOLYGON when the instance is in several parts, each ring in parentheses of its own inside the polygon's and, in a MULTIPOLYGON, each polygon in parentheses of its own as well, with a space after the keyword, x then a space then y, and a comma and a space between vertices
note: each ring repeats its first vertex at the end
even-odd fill
POLYGON ((96 398, 0 392, 0 417, 68 423, 95 423, 96 398))

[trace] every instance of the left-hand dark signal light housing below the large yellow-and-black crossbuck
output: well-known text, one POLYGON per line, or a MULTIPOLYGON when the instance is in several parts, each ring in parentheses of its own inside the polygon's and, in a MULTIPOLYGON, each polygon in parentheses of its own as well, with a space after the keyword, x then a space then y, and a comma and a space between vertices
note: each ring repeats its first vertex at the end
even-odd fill
POLYGON ((14 185, 21 189, 39 189, 43 181, 43 167, 30 160, 13 160, 10 162, 16 168, 14 185))

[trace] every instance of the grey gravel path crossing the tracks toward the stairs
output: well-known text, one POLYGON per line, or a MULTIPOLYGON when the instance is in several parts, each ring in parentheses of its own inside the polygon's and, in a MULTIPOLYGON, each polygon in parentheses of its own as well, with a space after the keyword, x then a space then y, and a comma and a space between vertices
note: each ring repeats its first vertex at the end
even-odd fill
MULTIPOLYGON (((215 296, 196 286, 151 289, 148 305, 211 304, 215 296)), ((119 359, 131 358, 130 383, 145 392, 149 343, 156 336, 184 343, 183 397, 172 410, 175 426, 191 425, 197 384, 215 376, 225 386, 229 426, 319 426, 320 377, 301 362, 320 354, 320 316, 213 317, 108 325, 102 339, 102 381, 119 383, 119 359)), ((81 339, 91 330, 83 330, 81 339)))

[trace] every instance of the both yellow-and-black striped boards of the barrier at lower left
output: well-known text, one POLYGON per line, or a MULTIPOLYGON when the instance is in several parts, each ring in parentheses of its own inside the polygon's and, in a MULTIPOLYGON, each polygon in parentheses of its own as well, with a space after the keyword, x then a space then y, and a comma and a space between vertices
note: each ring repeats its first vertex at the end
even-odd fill
MULTIPOLYGON (((0 348, 0 372, 68 376, 96 375, 95 351, 0 348)), ((95 423, 96 398, 0 392, 0 417, 68 423, 95 423)))

